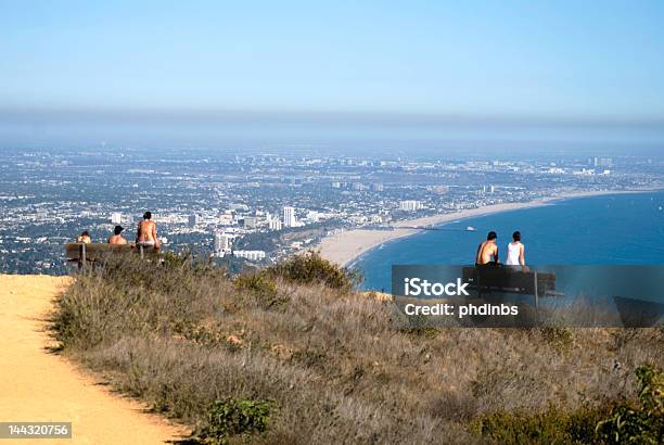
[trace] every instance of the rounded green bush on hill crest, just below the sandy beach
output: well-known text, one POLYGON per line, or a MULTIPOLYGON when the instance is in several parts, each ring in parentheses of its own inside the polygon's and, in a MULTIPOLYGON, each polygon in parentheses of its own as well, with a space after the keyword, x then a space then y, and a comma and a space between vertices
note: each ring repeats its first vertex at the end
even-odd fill
POLYGON ((359 282, 357 272, 345 270, 311 251, 293 255, 283 263, 267 268, 266 271, 271 276, 301 284, 322 283, 344 292, 350 291, 359 282))

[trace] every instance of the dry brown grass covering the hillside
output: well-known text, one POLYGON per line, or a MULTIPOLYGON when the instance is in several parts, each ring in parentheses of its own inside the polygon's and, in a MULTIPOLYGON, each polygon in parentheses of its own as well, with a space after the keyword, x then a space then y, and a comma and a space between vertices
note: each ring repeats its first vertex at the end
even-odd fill
POLYGON ((482 442, 474 419, 605 407, 634 396, 637 366, 664 365, 661 329, 405 332, 388 301, 290 278, 116 259, 60 298, 54 331, 199 431, 214 400, 273 400, 265 433, 231 437, 250 443, 482 442))

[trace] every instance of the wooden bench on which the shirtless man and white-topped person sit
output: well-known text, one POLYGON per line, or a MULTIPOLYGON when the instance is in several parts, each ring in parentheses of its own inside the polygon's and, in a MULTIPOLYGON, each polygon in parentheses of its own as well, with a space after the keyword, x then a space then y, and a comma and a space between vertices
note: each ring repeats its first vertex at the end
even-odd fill
POLYGON ((557 295, 556 275, 537 270, 519 270, 505 266, 464 267, 463 282, 468 288, 482 293, 502 292, 533 295, 535 307, 540 296, 557 295))

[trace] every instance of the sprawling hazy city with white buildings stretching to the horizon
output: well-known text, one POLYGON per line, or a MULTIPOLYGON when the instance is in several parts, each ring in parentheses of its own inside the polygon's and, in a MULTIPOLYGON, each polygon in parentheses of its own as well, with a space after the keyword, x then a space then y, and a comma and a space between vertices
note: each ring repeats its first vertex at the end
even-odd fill
POLYGON ((165 250, 268 264, 324 237, 575 191, 662 188, 639 156, 235 155, 209 150, 0 151, 0 272, 63 272, 88 230, 129 241, 151 211, 165 250))

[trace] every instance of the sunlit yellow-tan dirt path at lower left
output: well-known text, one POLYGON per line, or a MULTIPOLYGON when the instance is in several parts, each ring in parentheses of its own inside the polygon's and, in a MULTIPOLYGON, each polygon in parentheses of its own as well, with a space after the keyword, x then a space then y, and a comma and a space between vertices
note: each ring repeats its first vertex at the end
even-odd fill
POLYGON ((0 421, 71 421, 72 440, 25 444, 159 444, 187 432, 112 394, 64 358, 48 353, 43 331, 65 277, 0 276, 0 421))

